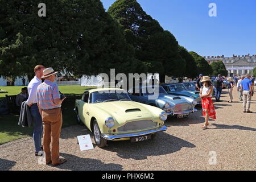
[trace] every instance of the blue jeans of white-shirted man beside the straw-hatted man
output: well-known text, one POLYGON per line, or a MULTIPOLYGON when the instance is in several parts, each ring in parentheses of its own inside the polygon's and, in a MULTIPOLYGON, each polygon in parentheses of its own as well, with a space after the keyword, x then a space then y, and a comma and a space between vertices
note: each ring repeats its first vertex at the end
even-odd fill
POLYGON ((42 117, 39 113, 38 105, 34 104, 30 108, 32 117, 34 119, 34 131, 33 131, 33 138, 34 138, 34 144, 35 144, 35 152, 41 151, 41 139, 42 139, 42 133, 43 133, 43 122, 42 117))

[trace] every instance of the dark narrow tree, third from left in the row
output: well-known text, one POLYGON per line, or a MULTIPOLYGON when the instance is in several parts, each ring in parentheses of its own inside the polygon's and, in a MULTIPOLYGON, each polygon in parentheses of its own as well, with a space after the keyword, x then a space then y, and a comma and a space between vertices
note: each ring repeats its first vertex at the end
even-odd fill
POLYGON ((186 64, 184 76, 195 78, 198 71, 194 57, 183 46, 179 46, 179 55, 185 60, 186 64))

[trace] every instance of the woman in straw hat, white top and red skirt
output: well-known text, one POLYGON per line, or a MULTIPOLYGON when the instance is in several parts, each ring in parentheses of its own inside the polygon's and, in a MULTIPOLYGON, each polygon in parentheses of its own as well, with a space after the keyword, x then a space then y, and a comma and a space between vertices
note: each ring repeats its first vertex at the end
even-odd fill
POLYGON ((203 88, 200 89, 200 98, 202 99, 203 116, 205 117, 205 123, 202 129, 205 130, 209 125, 209 118, 216 119, 216 113, 212 102, 212 81, 209 76, 204 76, 201 82, 203 82, 203 88))

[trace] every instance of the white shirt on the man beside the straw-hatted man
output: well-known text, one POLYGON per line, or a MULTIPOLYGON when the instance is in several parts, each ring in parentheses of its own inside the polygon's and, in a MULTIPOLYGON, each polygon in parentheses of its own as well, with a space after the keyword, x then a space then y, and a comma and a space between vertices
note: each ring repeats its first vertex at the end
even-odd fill
POLYGON ((40 80, 36 76, 28 84, 28 86, 27 86, 27 90, 28 90, 27 105, 35 104, 38 102, 36 100, 36 89, 38 89, 38 85, 40 85, 40 84, 42 84, 42 80, 40 80))

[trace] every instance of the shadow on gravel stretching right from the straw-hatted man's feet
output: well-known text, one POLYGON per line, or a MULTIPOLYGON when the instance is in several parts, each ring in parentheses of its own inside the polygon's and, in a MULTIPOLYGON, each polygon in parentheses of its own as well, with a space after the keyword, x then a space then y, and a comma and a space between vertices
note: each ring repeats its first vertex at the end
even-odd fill
MULTIPOLYGON (((120 164, 105 164, 97 159, 79 158, 78 156, 64 153, 60 153, 60 156, 67 159, 67 162, 56 166, 59 169, 73 171, 122 171, 123 169, 123 166, 120 164)), ((50 164, 49 166, 52 165, 50 164)))

